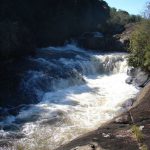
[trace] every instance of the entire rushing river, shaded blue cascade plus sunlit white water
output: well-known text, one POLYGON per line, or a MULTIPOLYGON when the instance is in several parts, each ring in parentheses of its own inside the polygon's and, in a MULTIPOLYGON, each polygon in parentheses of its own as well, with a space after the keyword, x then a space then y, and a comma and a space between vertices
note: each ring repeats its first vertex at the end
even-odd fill
POLYGON ((38 69, 28 70, 20 85, 39 103, 1 121, 0 139, 12 143, 8 149, 53 150, 125 111, 122 104, 138 92, 125 83, 126 55, 71 44, 40 49, 29 58, 38 69))

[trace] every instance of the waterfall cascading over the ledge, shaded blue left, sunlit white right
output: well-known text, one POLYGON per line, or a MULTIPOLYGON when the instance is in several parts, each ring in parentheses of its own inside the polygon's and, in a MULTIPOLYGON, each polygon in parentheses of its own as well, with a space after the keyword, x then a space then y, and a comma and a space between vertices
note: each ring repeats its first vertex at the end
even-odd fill
POLYGON ((31 99, 36 98, 38 101, 47 91, 85 84, 85 76, 110 75, 127 71, 125 53, 92 54, 74 45, 50 47, 46 50, 47 53, 57 52, 59 57, 32 58, 31 61, 39 68, 29 70, 20 86, 31 99))

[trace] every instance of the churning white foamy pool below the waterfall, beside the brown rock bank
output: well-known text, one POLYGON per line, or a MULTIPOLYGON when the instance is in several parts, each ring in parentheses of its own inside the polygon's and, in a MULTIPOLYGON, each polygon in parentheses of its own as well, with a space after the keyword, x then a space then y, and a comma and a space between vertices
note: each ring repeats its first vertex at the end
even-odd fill
POLYGON ((54 149, 125 111, 121 105, 137 93, 125 83, 126 77, 120 73, 86 78, 86 85, 45 93, 41 103, 17 116, 38 116, 37 121, 24 124, 27 138, 20 143, 29 149, 45 144, 54 149))

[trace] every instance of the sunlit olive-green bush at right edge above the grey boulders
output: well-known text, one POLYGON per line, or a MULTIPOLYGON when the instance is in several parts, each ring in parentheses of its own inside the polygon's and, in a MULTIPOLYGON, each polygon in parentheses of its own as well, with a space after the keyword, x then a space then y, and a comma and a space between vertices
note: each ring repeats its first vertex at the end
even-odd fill
POLYGON ((130 38, 130 66, 150 71, 150 20, 139 23, 130 38))

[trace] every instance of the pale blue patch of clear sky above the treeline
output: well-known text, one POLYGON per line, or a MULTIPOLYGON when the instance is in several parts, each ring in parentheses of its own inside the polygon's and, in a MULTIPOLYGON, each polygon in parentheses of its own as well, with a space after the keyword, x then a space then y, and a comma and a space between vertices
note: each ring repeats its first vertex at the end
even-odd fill
POLYGON ((130 14, 142 14, 149 0, 105 0, 110 7, 128 11, 130 14))

